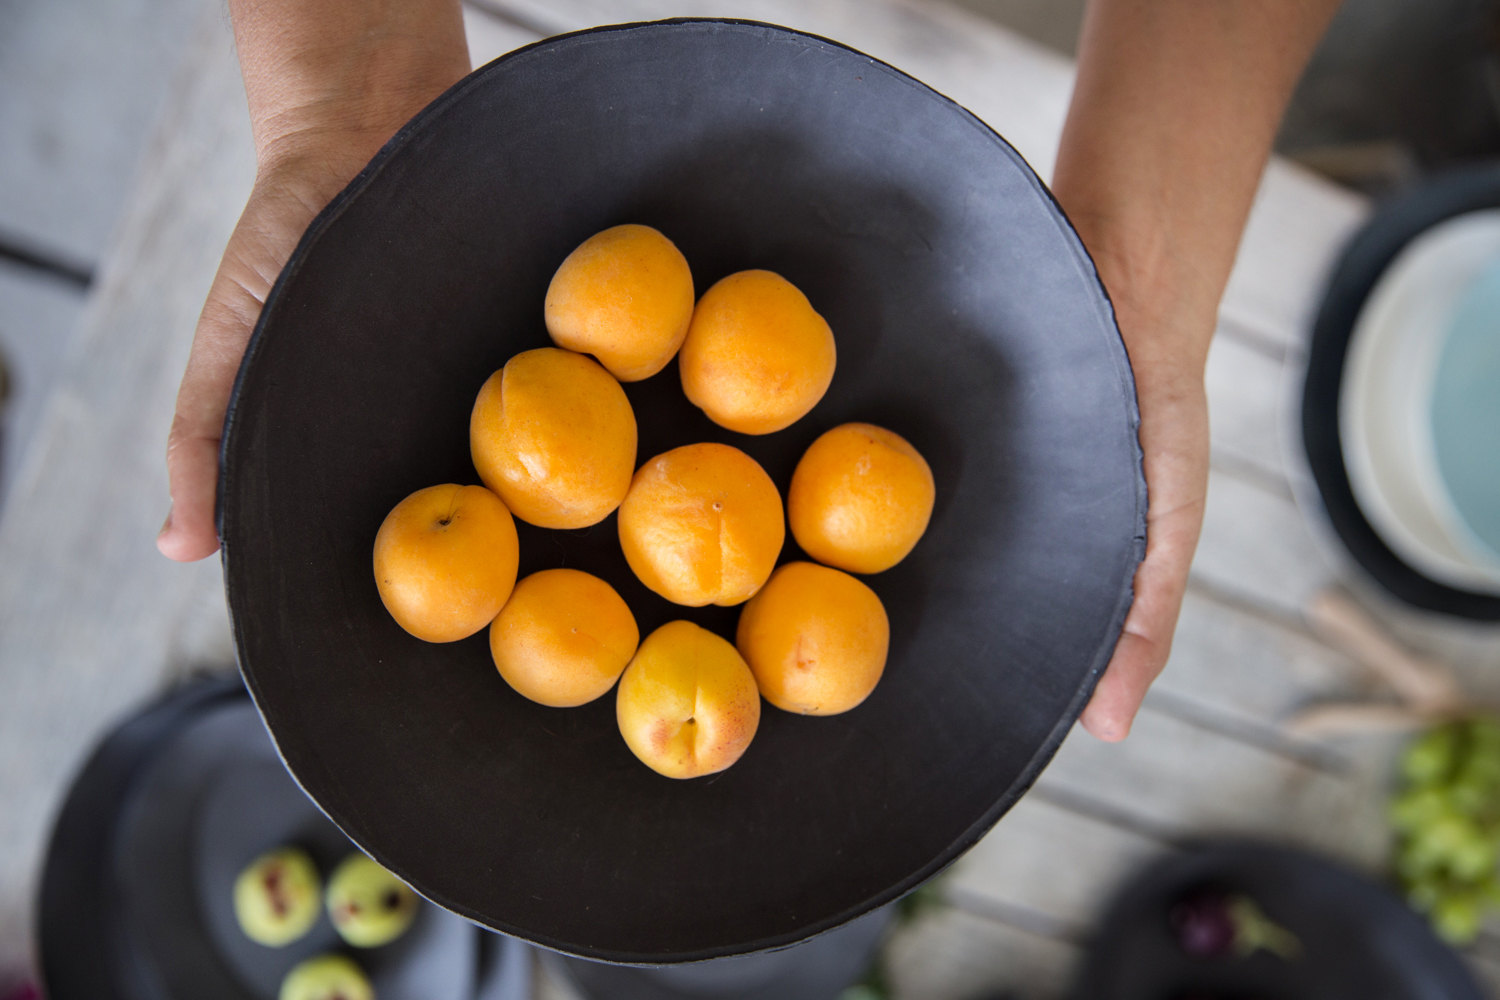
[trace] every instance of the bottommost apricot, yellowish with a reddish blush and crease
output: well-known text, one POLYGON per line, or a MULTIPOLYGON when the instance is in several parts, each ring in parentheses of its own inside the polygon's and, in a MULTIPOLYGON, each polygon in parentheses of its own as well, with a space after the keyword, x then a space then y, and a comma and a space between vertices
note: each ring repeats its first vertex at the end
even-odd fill
POLYGON ((646 636, 615 696, 630 753, 668 778, 698 778, 740 760, 760 724, 760 694, 735 648, 693 622, 646 636))

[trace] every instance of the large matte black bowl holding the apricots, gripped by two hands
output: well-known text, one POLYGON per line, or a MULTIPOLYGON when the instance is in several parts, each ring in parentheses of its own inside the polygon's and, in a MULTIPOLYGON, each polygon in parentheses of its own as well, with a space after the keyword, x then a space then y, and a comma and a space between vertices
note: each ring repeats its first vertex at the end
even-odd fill
MULTIPOLYGON (((420 892, 558 951, 674 963, 783 946, 912 889, 1035 780, 1108 660, 1144 540, 1134 384, 1082 244, 1022 157, 915 79, 765 24, 549 39, 423 111, 309 228, 225 429, 220 537, 244 678, 286 765, 420 892), (699 289, 780 271, 838 370, 790 429, 746 438, 675 367, 627 387, 640 460, 732 442, 784 489, 849 420, 930 460, 932 526, 870 577, 891 616, 858 709, 766 708, 729 771, 670 781, 610 697, 546 709, 483 634, 428 645, 384 612, 370 546, 412 490, 476 481, 484 378, 548 343, 578 243, 644 222, 699 289)), ((646 592, 615 522, 522 528, 522 573, 572 565, 642 634, 735 609, 646 592)), ((796 558, 788 544, 783 559, 796 558)))

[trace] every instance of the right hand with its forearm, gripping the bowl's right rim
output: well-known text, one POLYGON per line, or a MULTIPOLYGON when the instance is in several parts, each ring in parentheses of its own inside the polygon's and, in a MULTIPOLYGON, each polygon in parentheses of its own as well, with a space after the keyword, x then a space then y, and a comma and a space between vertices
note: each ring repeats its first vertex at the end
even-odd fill
POLYGON ((1119 741, 1167 664, 1203 526, 1203 366, 1276 123, 1338 0, 1089 0, 1053 169, 1136 372, 1146 558, 1080 723, 1119 741))

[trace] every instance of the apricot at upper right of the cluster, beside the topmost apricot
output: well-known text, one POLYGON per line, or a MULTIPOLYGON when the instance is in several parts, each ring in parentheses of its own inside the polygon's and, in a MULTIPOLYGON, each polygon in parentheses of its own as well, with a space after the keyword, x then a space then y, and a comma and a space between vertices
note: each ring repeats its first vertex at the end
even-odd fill
POLYGON ((678 355, 682 391, 708 418, 771 433, 807 414, 834 378, 834 334, 792 282, 740 271, 704 292, 678 355))

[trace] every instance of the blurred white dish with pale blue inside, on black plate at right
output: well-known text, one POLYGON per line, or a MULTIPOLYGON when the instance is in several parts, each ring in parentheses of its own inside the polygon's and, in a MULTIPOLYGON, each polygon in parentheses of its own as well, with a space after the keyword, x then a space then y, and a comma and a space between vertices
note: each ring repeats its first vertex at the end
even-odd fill
POLYGON ((1390 550, 1500 595, 1500 208, 1432 226, 1386 268, 1344 360, 1354 499, 1390 550))

